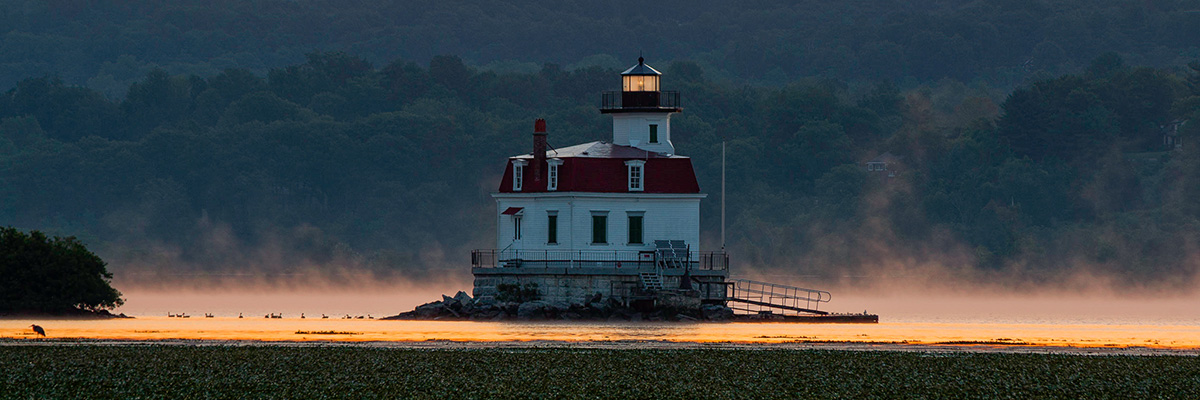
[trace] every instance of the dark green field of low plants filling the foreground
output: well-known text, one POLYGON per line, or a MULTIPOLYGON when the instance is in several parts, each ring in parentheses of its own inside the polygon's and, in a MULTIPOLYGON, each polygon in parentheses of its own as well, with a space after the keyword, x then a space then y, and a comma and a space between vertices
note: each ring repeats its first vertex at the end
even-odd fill
POLYGON ((1195 357, 6 346, 0 398, 1196 399, 1195 357))

